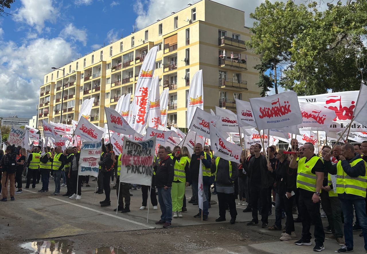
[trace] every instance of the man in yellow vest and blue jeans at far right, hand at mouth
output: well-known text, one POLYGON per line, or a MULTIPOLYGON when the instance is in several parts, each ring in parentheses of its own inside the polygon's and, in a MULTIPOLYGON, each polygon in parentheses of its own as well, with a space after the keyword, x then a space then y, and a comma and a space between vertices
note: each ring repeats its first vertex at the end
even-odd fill
POLYGON ((328 173, 336 175, 336 192, 342 204, 344 214, 345 245, 337 252, 353 252, 353 212, 359 219, 364 236, 364 249, 367 253, 367 215, 366 215, 366 162, 360 154, 354 152, 354 146, 346 143, 337 164, 330 162, 330 156, 324 156, 325 167, 328 173), (354 206, 354 209, 353 209, 354 206))

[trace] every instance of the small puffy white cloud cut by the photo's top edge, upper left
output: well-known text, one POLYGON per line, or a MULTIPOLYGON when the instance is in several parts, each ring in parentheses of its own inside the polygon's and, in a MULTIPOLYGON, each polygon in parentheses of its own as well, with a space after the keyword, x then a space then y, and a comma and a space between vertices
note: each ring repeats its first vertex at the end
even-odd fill
POLYGON ((14 13, 14 20, 25 22, 41 33, 45 22, 54 22, 59 10, 52 4, 52 0, 21 0, 22 6, 14 13))

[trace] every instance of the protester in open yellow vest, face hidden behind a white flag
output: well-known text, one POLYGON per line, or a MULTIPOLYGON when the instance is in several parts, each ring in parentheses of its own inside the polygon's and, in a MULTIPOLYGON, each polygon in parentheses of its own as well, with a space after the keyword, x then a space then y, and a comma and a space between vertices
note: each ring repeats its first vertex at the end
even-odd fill
POLYGON ((228 205, 231 217, 230 224, 235 224, 237 210, 234 182, 238 177, 238 165, 233 161, 217 157, 211 159, 210 169, 215 176, 219 203, 219 218, 215 221, 226 220, 226 207, 228 205))

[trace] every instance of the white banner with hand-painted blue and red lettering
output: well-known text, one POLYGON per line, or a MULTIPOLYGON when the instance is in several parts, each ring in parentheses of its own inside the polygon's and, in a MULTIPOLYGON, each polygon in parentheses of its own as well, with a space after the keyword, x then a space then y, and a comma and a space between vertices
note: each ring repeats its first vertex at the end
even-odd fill
POLYGON ((80 149, 79 169, 80 176, 98 176, 99 165, 101 160, 102 142, 84 141, 80 149))

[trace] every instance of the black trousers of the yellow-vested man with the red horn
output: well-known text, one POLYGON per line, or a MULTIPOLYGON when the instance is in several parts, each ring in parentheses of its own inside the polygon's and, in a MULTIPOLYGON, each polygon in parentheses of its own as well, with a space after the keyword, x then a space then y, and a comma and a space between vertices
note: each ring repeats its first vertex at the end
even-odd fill
POLYGON ((320 216, 320 202, 312 202, 313 194, 312 191, 299 190, 298 216, 302 221, 302 238, 305 240, 311 239, 310 227, 311 221, 313 221, 313 224, 315 224, 315 230, 313 231, 315 243, 323 244, 325 233, 320 216))

